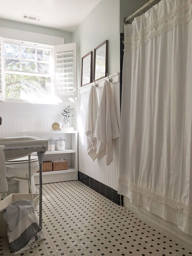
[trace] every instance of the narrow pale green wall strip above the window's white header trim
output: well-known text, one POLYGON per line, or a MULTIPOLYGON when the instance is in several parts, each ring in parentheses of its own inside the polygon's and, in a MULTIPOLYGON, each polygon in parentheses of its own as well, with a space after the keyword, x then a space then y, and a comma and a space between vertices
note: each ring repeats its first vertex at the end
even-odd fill
POLYGON ((8 19, 0 19, 0 27, 8 29, 17 29, 21 31, 28 31, 33 33, 39 33, 43 35, 52 35, 64 38, 65 44, 72 42, 72 33, 63 31, 60 29, 53 29, 42 26, 35 26, 31 24, 26 24, 22 22, 15 22, 8 19))

